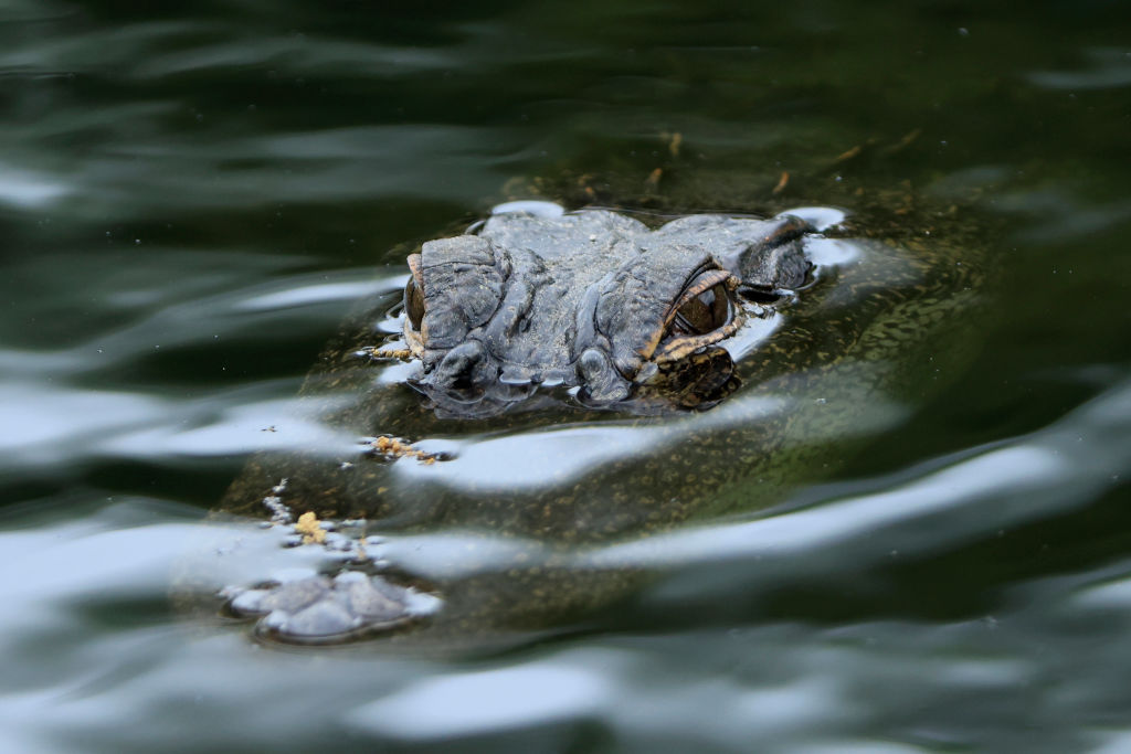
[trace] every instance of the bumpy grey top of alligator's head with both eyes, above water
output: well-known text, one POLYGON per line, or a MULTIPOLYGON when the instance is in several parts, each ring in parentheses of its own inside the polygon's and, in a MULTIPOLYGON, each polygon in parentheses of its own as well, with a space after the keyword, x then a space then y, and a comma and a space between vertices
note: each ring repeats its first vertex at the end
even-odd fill
POLYGON ((494 414, 538 385, 573 387, 586 405, 645 392, 714 405, 735 384, 723 341, 810 279, 815 228, 795 215, 650 229, 605 210, 516 205, 408 258, 405 337, 423 363, 416 385, 442 413, 494 414))

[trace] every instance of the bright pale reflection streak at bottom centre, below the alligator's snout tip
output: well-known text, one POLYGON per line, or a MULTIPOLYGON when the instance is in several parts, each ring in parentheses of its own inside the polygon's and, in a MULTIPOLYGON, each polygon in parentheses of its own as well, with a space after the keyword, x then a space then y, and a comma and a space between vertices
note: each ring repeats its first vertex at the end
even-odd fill
POLYGON ((639 736, 690 722, 688 710, 710 710, 710 725, 692 727, 719 744, 754 735, 794 735, 853 714, 830 683, 806 678, 749 690, 726 679, 690 678, 679 694, 631 687, 639 660, 608 650, 579 650, 516 667, 449 674, 409 683, 397 693, 348 711, 351 727, 396 740, 443 740, 546 725, 601 719, 639 736), (838 712, 834 712, 838 710, 838 712), (831 719, 830 719, 831 713, 831 719))

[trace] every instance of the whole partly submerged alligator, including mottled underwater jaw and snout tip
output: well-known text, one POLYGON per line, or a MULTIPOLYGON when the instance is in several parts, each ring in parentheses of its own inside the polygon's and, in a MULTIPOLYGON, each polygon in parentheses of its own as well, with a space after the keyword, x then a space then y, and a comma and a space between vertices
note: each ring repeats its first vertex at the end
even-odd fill
POLYGON ((831 441, 897 423, 960 361, 973 249, 837 237, 843 219, 516 202, 423 244, 386 344, 411 354, 390 367, 405 379, 359 357, 382 300, 304 388, 343 442, 264 453, 228 492, 224 511, 288 525, 264 541, 316 554, 226 609, 282 641, 477 643, 624 595, 647 569, 610 541, 782 502, 831 441), (356 441, 374 435, 422 442, 356 441))

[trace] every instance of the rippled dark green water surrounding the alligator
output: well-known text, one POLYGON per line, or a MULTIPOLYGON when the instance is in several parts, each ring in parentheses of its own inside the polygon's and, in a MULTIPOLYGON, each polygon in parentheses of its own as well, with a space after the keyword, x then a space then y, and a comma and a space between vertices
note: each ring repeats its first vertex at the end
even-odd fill
POLYGON ((3 751, 1131 748, 1122 5, 8 0, 0 107, 3 751), (174 609, 413 243, 515 177, 657 166, 768 209, 960 198, 999 270, 977 355, 553 640, 286 651, 174 609))

